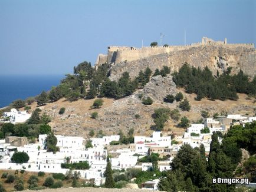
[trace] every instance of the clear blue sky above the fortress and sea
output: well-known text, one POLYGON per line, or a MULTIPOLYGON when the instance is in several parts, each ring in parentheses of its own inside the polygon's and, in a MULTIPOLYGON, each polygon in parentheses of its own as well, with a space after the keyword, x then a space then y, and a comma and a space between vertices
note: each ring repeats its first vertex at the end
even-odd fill
POLYGON ((254 0, 0 0, 0 75, 67 74, 109 45, 256 44, 254 0))

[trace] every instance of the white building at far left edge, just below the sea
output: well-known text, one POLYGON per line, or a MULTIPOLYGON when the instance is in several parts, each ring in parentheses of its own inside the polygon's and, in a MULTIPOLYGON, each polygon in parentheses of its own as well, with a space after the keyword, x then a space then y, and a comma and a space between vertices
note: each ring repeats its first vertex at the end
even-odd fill
POLYGON ((27 111, 17 111, 15 108, 12 108, 11 112, 4 112, 4 118, 8 117, 9 121, 4 121, 5 123, 24 123, 31 117, 31 114, 28 114, 27 111))

